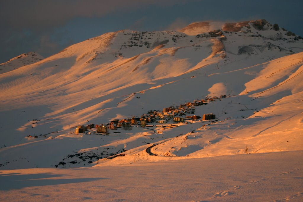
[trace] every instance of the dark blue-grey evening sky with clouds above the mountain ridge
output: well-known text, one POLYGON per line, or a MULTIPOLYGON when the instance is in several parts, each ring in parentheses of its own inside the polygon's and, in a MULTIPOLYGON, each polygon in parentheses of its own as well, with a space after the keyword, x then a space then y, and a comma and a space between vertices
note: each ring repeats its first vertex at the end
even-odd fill
POLYGON ((266 19, 303 36, 301 0, 0 0, 0 63, 44 57, 121 29, 176 30, 197 21, 266 19))

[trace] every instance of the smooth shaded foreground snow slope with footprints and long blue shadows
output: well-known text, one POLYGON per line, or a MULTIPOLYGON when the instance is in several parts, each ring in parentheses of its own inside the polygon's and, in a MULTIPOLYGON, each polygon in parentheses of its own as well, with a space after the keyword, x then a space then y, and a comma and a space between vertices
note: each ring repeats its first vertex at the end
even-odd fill
POLYGON ((302 201, 302 151, 2 170, 1 201, 302 201))

